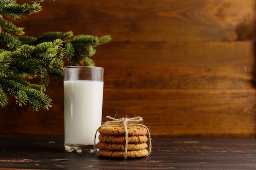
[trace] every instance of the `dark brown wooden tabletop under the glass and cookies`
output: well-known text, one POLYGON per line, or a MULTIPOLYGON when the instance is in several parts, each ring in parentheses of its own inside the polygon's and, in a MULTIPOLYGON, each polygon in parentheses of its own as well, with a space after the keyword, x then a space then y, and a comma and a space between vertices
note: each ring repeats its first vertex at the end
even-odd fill
POLYGON ((152 137, 149 157, 66 152, 63 135, 0 135, 0 170, 256 170, 256 139, 152 137))

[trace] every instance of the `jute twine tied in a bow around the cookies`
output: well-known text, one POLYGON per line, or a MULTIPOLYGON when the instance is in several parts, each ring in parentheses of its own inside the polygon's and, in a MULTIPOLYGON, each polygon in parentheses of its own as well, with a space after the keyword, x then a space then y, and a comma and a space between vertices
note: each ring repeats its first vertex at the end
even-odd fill
MULTIPOLYGON (((147 136, 148 136, 148 155, 150 155, 151 153, 151 148, 152 148, 152 144, 151 144, 151 137, 150 137, 150 131, 149 129, 142 124, 143 119, 141 117, 133 117, 133 118, 128 118, 128 117, 121 117, 119 119, 116 119, 114 117, 110 117, 107 116, 107 119, 110 119, 110 121, 106 121, 105 123, 103 123, 99 128, 106 126, 106 125, 124 125, 124 130, 125 130, 125 137, 126 137, 126 142, 125 142, 125 150, 124 150, 124 159, 127 159, 127 148, 128 148, 128 130, 127 130, 127 126, 142 126, 144 128, 146 128, 146 130, 148 131, 147 136)), ((97 149, 96 149, 96 136, 97 136, 97 132, 99 130, 99 128, 97 129, 95 136, 94 136, 94 150, 95 152, 99 155, 97 149)), ((146 155, 146 156, 148 156, 146 155)))

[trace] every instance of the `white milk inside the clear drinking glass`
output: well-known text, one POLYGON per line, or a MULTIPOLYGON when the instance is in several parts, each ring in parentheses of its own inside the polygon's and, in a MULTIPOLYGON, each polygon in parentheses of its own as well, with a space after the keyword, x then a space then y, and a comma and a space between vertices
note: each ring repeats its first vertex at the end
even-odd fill
POLYGON ((94 144, 95 132, 101 126, 102 102, 103 82, 64 81, 66 144, 94 144))

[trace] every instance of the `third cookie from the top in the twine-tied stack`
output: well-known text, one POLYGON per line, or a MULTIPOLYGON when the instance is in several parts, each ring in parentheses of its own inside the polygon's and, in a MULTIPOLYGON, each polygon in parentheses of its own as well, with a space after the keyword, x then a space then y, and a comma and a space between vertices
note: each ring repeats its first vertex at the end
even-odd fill
MULTIPOLYGON (((97 144, 97 147, 103 150, 125 150, 125 144, 110 144, 102 141, 100 141, 97 144)), ((146 143, 141 143, 141 144, 137 143, 137 144, 127 145, 127 150, 142 150, 146 148, 148 148, 148 144, 146 143)))

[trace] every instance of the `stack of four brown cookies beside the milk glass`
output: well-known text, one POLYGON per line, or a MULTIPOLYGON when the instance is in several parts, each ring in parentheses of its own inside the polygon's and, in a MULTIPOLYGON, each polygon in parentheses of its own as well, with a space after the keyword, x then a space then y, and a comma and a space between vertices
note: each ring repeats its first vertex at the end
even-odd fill
MULTIPOLYGON (((148 131, 142 126, 127 126, 128 146, 126 157, 136 158, 148 155, 148 131)), ((98 154, 105 157, 124 157, 126 133, 123 125, 106 125, 99 128, 98 154)))

